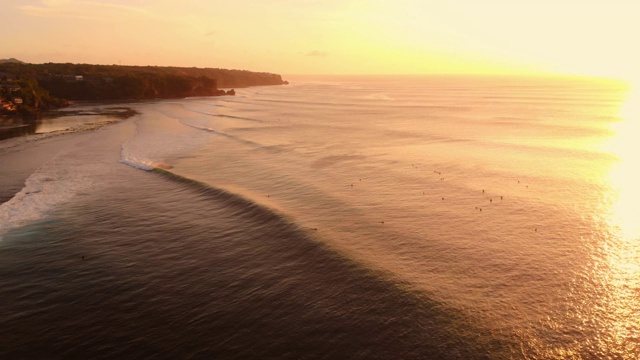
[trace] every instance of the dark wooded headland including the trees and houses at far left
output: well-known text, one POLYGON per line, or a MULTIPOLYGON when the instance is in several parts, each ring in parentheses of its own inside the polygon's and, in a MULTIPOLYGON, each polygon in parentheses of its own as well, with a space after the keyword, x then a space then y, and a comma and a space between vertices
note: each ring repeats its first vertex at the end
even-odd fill
POLYGON ((246 70, 0 59, 0 115, 36 114, 69 101, 234 95, 231 88, 283 84, 287 82, 278 74, 246 70))

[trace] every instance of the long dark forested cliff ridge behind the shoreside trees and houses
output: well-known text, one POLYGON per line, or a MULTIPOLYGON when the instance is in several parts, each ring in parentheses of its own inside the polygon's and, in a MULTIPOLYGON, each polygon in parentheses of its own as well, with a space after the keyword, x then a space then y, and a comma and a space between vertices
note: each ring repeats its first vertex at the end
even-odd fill
POLYGON ((67 100, 129 100, 216 96, 219 88, 281 85, 277 74, 213 68, 91 64, 0 63, 0 74, 36 79, 52 97, 67 100))

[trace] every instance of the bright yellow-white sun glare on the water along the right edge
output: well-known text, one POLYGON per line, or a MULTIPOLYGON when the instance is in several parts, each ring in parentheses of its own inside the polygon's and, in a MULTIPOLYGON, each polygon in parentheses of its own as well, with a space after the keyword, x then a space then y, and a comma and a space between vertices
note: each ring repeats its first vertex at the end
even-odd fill
POLYGON ((637 354, 640 331, 640 173, 637 141, 640 135, 640 89, 634 89, 620 111, 621 121, 612 125, 616 135, 608 149, 618 157, 609 173, 611 194, 608 198, 607 226, 609 240, 603 247, 600 281, 607 290, 606 324, 603 330, 613 340, 605 353, 637 354))

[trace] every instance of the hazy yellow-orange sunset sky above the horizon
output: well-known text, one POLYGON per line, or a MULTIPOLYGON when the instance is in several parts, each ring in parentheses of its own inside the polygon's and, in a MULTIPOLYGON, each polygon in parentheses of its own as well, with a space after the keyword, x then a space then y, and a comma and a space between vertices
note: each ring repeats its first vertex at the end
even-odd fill
POLYGON ((634 0, 0 0, 0 9, 0 58, 33 63, 640 79, 634 0))

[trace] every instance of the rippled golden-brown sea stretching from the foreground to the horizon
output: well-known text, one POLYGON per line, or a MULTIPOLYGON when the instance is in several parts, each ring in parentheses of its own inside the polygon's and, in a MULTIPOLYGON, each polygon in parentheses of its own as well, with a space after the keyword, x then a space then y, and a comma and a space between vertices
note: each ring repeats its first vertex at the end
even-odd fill
POLYGON ((633 88, 290 80, 59 135, 0 205, 0 358, 640 357, 633 88))

